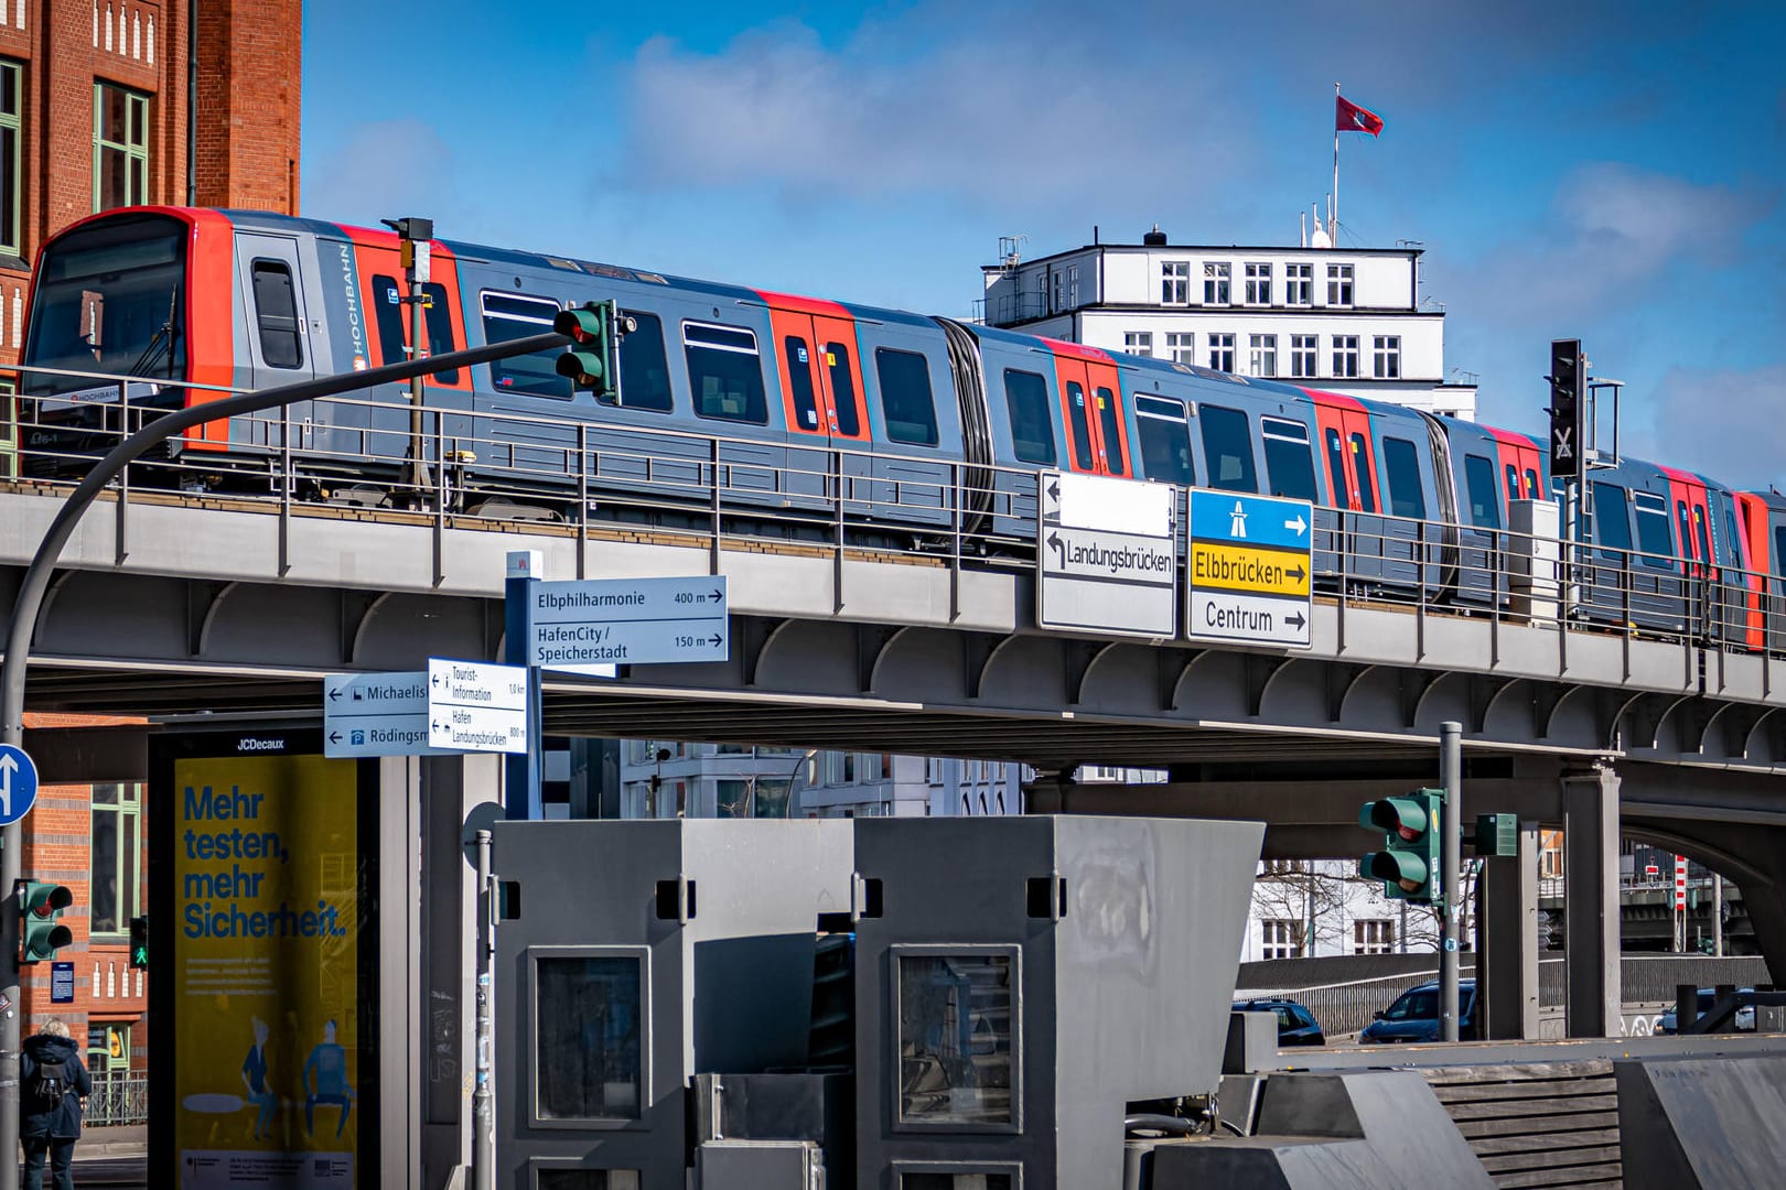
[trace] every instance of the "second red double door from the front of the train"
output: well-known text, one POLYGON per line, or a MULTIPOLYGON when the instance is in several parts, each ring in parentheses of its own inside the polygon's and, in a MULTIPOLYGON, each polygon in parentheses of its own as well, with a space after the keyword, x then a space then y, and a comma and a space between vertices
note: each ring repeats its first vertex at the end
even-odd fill
POLYGON ((855 321, 832 302, 763 294, 775 332, 775 366, 789 434, 868 441, 855 321))

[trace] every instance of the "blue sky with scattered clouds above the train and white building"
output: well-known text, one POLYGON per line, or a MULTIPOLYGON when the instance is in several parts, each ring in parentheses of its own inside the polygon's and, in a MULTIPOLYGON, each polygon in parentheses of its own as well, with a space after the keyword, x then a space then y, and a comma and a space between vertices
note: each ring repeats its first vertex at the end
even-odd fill
POLYGON ((1340 80, 1386 121, 1341 145, 1340 243, 1427 246, 1484 421, 1536 430, 1548 341, 1581 337, 1629 382, 1629 450, 1786 487, 1786 5, 304 18, 304 214, 954 316, 1007 234, 1297 243, 1340 80))

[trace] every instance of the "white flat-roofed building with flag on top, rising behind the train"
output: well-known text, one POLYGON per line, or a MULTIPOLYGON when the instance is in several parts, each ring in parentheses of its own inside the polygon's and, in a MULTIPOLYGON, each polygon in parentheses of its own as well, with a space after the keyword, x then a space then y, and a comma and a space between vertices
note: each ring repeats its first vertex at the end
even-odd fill
MULTIPOLYGON (((1316 243, 1325 243, 1323 236, 1316 243)), ((989 326, 1475 416, 1445 373, 1445 310, 1420 294, 1420 246, 1241 248, 1093 243, 982 266, 989 326)))

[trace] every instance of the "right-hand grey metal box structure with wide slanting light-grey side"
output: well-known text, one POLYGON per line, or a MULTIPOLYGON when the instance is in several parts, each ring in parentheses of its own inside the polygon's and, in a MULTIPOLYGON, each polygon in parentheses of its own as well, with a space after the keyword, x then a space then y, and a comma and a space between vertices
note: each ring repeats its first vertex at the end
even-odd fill
POLYGON ((1259 835, 857 819, 857 1188, 1116 1185, 1125 1104, 1220 1081, 1259 835))

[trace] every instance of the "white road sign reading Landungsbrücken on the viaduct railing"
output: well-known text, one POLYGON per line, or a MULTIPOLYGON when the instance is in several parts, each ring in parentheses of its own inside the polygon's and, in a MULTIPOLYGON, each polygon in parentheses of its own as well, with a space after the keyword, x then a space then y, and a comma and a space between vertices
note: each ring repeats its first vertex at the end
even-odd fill
POLYGON ((1170 640, 1177 635, 1177 489, 1098 475, 1041 473, 1036 623, 1170 640))

